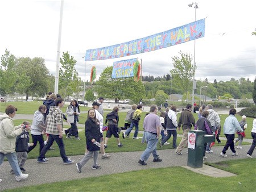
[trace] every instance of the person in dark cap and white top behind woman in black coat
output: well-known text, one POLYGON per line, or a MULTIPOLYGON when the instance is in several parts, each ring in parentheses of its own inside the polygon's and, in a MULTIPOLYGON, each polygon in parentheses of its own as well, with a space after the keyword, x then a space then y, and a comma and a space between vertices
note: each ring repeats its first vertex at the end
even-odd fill
MULTIPOLYGON (((93 109, 95 110, 95 113, 96 113, 96 119, 98 119, 98 121, 100 122, 100 132, 101 132, 102 135, 103 135, 103 131, 102 131, 102 127, 103 127, 103 116, 100 114, 100 112, 98 112, 98 109, 100 108, 101 104, 96 101, 96 102, 93 102, 92 106, 93 106, 93 109)), ((103 159, 109 159, 109 157, 110 157, 111 155, 105 153, 105 149, 104 149, 104 137, 101 137, 101 139, 100 139, 100 144, 101 144, 101 147, 100 147, 101 158, 103 158, 103 159)))

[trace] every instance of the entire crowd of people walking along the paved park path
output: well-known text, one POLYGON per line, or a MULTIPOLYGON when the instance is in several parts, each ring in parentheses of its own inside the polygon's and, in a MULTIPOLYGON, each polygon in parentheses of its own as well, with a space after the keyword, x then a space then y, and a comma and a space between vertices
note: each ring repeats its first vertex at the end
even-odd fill
MULTIPOLYGON (((104 109, 102 103, 104 98, 100 97, 98 101, 92 103, 92 108, 88 110, 88 116, 85 122, 85 137, 86 137, 86 149, 85 156, 80 162, 76 163, 76 168, 79 173, 82 171, 82 166, 93 157, 92 169, 101 169, 98 165, 98 153, 101 152, 101 157, 109 159, 110 155, 105 153, 105 148, 108 147, 108 140, 112 135, 117 140, 117 147, 122 147, 123 144, 120 141, 118 128, 119 107, 115 106, 112 112, 106 114, 104 126, 104 109), (104 140, 103 130, 106 130, 106 137, 104 140)), ((6 107, 5 114, 0 116, 0 165, 3 162, 3 158, 6 157, 11 165, 11 173, 15 174, 16 181, 22 181, 28 177, 24 164, 27 160, 28 153, 32 151, 39 143, 39 156, 38 163, 47 164, 48 158, 46 153, 52 148, 53 142, 56 141, 60 156, 63 160, 63 164, 73 164, 74 160, 68 158, 65 154, 65 146, 63 142, 63 119, 67 120, 71 124, 68 130, 65 130, 66 138, 71 139, 72 136, 75 139, 80 140, 79 132, 77 131, 77 123, 79 122, 80 108, 76 101, 73 99, 70 105, 67 107, 67 116, 65 117, 61 110, 64 106, 64 99, 60 95, 49 93, 44 105, 40 105, 38 110, 35 111, 34 119, 32 123, 23 122, 19 126, 14 126, 12 118, 15 116, 17 108, 12 105, 6 107), (53 105, 54 104, 54 105, 53 105), (47 114, 47 115, 46 115, 47 114), (31 130, 32 143, 29 143, 30 135, 28 131, 31 130), (44 141, 44 135, 46 135, 46 141, 44 141)), ((142 115, 142 101, 139 105, 131 106, 131 110, 127 112, 125 118, 126 130, 122 133, 123 139, 129 137, 131 130, 135 127, 133 139, 139 139, 138 127, 139 121, 142 115)), ((141 165, 147 165, 148 157, 151 155, 154 157, 153 162, 160 162, 162 158, 156 151, 156 146, 159 141, 159 147, 168 145, 168 140, 172 139, 172 147, 175 148, 177 155, 182 155, 181 151, 188 145, 188 132, 195 128, 195 130, 204 131, 205 134, 214 135, 218 143, 221 141, 218 138, 220 135, 220 117, 217 112, 213 110, 212 105, 202 105, 199 108, 199 119, 196 121, 192 114, 192 105, 188 104, 186 108, 181 112, 179 119, 177 119, 177 107, 172 105, 170 108, 166 106, 166 111, 160 112, 158 116, 158 107, 152 105, 150 112, 147 112, 143 121, 143 138, 142 143, 146 143, 147 147, 139 158, 138 163, 141 165), (183 136, 179 145, 176 143, 177 129, 183 130, 183 136)), ((227 157, 226 151, 228 148, 232 151, 232 156, 237 156, 235 145, 238 142, 237 149, 242 149, 242 140, 245 137, 245 129, 247 128, 246 116, 242 116, 242 120, 238 122, 235 117, 236 109, 232 108, 229 111, 228 118, 224 122, 224 134, 226 136, 226 144, 220 153, 220 157, 227 157), (234 140, 235 134, 238 133, 238 139, 234 140)), ((247 157, 252 158, 252 153, 256 145, 256 119, 253 120, 253 129, 251 130, 251 136, 253 137, 253 143, 247 157)), ((207 159, 205 153, 212 153, 212 143, 204 144, 203 159, 207 159)), ((0 182, 2 180, 0 179, 0 182)))

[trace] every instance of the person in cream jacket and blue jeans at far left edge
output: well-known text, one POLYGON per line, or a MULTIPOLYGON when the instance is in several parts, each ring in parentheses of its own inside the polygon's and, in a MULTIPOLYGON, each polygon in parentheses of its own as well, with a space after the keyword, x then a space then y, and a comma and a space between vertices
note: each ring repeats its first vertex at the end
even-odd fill
POLYGON ((13 169, 16 181, 21 181, 26 179, 28 174, 23 174, 19 168, 15 143, 16 136, 20 135, 23 130, 27 131, 28 127, 24 128, 23 124, 14 126, 12 118, 16 115, 16 111, 16 107, 9 105, 5 109, 5 114, 0 115, 0 165, 6 157, 13 169))

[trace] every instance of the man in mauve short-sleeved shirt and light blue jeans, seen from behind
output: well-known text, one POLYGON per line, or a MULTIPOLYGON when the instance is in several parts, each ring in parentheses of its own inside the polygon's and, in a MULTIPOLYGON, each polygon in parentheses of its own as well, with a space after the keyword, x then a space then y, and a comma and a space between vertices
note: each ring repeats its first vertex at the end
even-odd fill
POLYGON ((150 107, 150 114, 148 114, 143 122, 145 137, 147 141, 147 148, 142 153, 141 158, 138 163, 141 165, 147 165, 146 161, 150 154, 152 153, 154 160, 153 162, 160 162, 162 159, 159 158, 159 155, 156 153, 156 145, 158 144, 158 138, 161 131, 161 123, 159 116, 156 115, 158 112, 158 107, 152 105, 150 107))

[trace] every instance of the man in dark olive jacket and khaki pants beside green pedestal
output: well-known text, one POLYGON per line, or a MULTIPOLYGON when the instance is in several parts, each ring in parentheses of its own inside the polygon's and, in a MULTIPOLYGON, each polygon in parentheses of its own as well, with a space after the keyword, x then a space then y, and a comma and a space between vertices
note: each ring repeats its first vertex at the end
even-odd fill
POLYGON ((179 123, 177 124, 179 130, 180 126, 182 126, 183 130, 183 137, 180 141, 179 147, 176 149, 177 155, 182 155, 181 151, 184 147, 187 147, 188 145, 188 132, 191 130, 192 126, 195 126, 195 118, 192 115, 191 112, 192 105, 188 104, 184 111, 181 112, 180 118, 179 118, 179 123))

